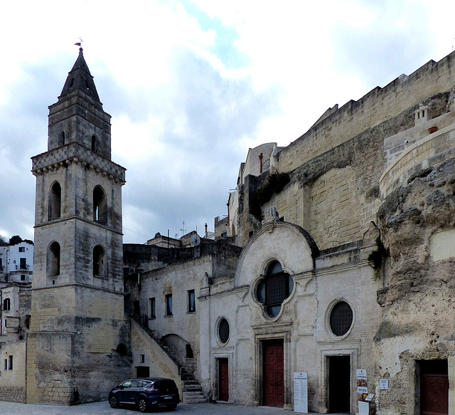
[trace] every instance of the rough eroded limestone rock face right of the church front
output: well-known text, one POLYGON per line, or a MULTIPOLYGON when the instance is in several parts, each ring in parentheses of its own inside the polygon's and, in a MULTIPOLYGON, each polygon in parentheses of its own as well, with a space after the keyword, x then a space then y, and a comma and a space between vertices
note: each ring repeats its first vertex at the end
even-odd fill
POLYGON ((455 159, 414 174, 379 213, 390 257, 378 291, 383 313, 375 354, 378 375, 400 391, 382 394, 381 404, 410 414, 419 404, 411 381, 417 362, 447 359, 455 348, 455 159))

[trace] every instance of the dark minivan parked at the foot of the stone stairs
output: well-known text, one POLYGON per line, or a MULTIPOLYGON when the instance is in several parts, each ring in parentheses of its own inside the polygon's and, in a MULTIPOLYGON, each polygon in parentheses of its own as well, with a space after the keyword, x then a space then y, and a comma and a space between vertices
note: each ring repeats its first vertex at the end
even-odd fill
POLYGON ((179 401, 176 382, 164 377, 128 379, 109 392, 109 405, 112 408, 136 405, 141 412, 156 409, 158 406, 176 409, 179 401))

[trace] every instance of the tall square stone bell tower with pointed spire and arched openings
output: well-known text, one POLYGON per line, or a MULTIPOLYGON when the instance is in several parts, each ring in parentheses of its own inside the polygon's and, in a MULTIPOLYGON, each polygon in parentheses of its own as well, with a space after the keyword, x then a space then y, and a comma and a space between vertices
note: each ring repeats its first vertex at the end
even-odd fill
POLYGON ((130 374, 124 317, 122 186, 110 115, 80 48, 49 107, 48 151, 36 176, 27 402, 107 398, 130 374))

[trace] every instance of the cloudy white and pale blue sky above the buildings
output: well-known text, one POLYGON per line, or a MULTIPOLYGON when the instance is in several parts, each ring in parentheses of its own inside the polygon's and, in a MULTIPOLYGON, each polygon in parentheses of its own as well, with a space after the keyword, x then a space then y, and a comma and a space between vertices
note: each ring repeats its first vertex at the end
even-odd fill
MULTIPOLYGON (((203 233, 249 147, 296 140, 455 45, 455 1, 9 1, 1 6, 0 235, 33 239, 31 157, 84 56, 127 168, 124 242, 203 233)), ((454 75, 455 83, 455 75, 454 75)))

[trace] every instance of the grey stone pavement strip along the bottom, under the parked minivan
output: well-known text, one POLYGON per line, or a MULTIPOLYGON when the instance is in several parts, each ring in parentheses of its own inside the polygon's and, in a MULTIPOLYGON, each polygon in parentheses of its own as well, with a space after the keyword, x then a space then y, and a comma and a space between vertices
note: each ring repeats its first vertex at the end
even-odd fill
MULTIPOLYGON (((294 411, 284 411, 268 406, 242 406, 226 404, 178 404, 175 411, 159 410, 159 414, 169 415, 292 415, 294 411)), ((2 415, 138 415, 136 409, 112 409, 107 401, 76 406, 28 405, 0 401, 2 415)), ((313 413, 313 415, 316 415, 313 413)), ((331 414, 337 415, 337 414, 331 414)))

